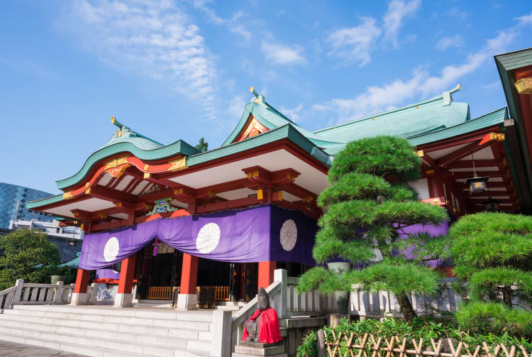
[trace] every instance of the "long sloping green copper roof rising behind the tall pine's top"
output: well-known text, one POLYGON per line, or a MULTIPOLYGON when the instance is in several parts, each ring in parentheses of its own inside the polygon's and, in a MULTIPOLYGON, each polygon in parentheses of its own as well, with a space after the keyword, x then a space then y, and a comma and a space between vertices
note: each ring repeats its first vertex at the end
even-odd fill
MULTIPOLYGON (((377 135, 410 138, 470 120, 467 103, 451 100, 450 104, 445 105, 444 101, 445 94, 381 114, 320 129, 314 133, 343 143, 377 135)), ((333 150, 335 149, 331 148, 328 153, 332 155, 333 150)))

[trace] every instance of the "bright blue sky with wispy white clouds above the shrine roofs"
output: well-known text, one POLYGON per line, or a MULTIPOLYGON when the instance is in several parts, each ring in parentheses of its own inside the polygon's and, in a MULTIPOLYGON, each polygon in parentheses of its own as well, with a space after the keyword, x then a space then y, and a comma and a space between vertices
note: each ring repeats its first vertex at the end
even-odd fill
POLYGON ((58 193, 111 116, 214 148, 250 85, 309 130, 458 83, 480 116, 506 106, 493 55, 531 33, 531 1, 2 1, 0 181, 58 193))

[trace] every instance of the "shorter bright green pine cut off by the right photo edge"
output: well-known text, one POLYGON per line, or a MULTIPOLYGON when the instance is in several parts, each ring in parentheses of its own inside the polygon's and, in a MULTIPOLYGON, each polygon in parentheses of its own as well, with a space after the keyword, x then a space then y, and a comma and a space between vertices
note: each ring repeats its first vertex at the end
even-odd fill
POLYGON ((532 313, 512 309, 532 302, 532 217, 482 212, 462 217, 450 231, 449 256, 470 295, 457 312, 465 329, 532 335, 532 313))

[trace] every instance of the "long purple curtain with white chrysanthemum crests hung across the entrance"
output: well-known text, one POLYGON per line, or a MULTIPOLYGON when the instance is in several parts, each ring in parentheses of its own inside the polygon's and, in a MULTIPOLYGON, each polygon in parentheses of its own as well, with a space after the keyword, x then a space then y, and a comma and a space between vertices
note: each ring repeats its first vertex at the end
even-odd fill
POLYGON ((84 236, 79 268, 108 268, 157 238, 201 258, 233 263, 293 261, 314 265, 316 221, 301 212, 264 205, 239 211, 156 219, 84 236))

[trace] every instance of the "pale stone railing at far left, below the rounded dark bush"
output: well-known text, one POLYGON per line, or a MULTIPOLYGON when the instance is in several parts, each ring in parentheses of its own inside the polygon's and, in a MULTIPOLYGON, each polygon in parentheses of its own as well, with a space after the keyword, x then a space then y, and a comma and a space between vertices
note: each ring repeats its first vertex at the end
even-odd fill
MULTIPOLYGON (((72 292, 74 284, 64 285, 62 281, 57 284, 36 284, 18 279, 15 286, 0 291, 0 307, 11 309, 13 305, 21 304, 69 304, 72 292)), ((89 304, 94 304, 96 284, 87 287, 87 295, 89 304)))

